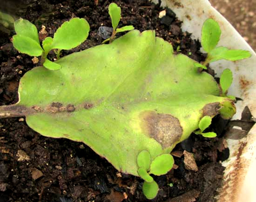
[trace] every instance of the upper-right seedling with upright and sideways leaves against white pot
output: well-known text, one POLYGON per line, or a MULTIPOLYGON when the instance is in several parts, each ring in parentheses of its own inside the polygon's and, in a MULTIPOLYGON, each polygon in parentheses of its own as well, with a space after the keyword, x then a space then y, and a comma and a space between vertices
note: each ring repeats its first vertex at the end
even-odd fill
POLYGON ((221 36, 221 29, 213 19, 208 19, 202 26, 202 47, 207 52, 206 60, 200 64, 195 63, 195 67, 207 69, 206 65, 218 60, 237 61, 249 58, 251 54, 245 50, 231 50, 227 47, 216 47, 221 36))

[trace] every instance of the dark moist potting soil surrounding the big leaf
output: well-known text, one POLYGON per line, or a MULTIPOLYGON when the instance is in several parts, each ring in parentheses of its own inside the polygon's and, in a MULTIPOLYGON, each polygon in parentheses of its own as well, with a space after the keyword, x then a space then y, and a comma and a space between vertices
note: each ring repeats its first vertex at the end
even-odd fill
MULTIPOLYGON (((174 50, 178 48, 180 53, 199 62, 205 59, 199 51, 199 41, 191 40, 189 33, 181 31, 182 22, 171 10, 159 19, 163 8, 146 0, 114 2, 122 11, 119 27, 133 25, 140 31, 154 29, 174 50)), ((79 47, 63 51, 61 56, 64 56, 101 44, 104 39, 98 29, 111 27, 110 3, 108 0, 11 0, 2 2, 1 9, 16 18, 31 21, 39 31, 44 25, 47 34, 40 34, 40 40, 53 37, 56 29, 73 17, 88 20, 88 40, 79 47)), ((0 105, 9 105, 18 101, 22 75, 39 64, 33 63, 33 57, 13 48, 13 30, 4 27, 0 30, 0 105)), ((54 58, 53 53, 49 56, 54 58)), ((167 175, 154 177, 160 190, 153 202, 215 201, 224 170, 220 162, 229 156, 222 137, 228 122, 217 116, 210 129, 218 137, 207 139, 192 134, 175 147, 175 169, 167 175), (184 150, 194 154, 198 171, 185 168, 184 150)), ((81 142, 48 138, 34 132, 27 126, 25 117, 0 120, 0 202, 145 202, 148 200, 142 193, 142 183, 138 177, 119 173, 81 142)))

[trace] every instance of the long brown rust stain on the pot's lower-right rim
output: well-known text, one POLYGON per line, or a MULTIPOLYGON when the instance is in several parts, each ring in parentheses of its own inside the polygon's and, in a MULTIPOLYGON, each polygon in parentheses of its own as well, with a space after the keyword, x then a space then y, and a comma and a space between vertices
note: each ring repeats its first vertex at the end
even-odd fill
MULTIPOLYGON (((224 184, 222 187, 221 195, 219 196, 219 202, 235 202, 237 201, 236 196, 239 195, 243 180, 247 174, 248 161, 243 158, 243 150, 246 147, 247 142, 241 143, 236 154, 236 160, 234 164, 231 164, 232 171, 225 176, 224 184), (228 201, 226 200, 228 199, 228 201)), ((227 168, 226 168, 227 169, 227 168)))

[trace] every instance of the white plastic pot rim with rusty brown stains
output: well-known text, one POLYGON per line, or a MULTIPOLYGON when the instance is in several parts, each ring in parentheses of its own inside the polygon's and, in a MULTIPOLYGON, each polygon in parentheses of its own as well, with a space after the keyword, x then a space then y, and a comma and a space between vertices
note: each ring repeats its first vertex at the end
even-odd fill
MULTIPOLYGON (((158 0, 153 1, 158 3, 158 0)), ((229 94, 243 99, 237 101, 237 113, 233 119, 240 119, 246 106, 256 117, 256 54, 243 37, 215 8, 211 7, 208 0, 162 0, 161 6, 169 7, 176 13, 178 19, 183 21, 182 30, 191 33, 192 38, 200 40, 203 22, 212 18, 220 24, 222 30, 218 46, 251 52, 252 56, 249 59, 235 62, 216 61, 211 63, 210 67, 215 70, 217 76, 224 68, 229 68, 233 72, 234 81, 229 94)), ((222 162, 226 167, 224 182, 216 198, 219 202, 256 202, 256 125, 244 138, 226 140, 230 156, 222 162)))

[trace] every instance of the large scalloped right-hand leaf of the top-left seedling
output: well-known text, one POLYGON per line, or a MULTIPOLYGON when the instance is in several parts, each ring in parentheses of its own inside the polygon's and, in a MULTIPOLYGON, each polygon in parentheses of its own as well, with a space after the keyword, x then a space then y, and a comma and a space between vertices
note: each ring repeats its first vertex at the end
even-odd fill
POLYGON ((87 39, 89 31, 89 24, 83 18, 66 21, 55 32, 52 49, 69 50, 77 47, 87 39))

